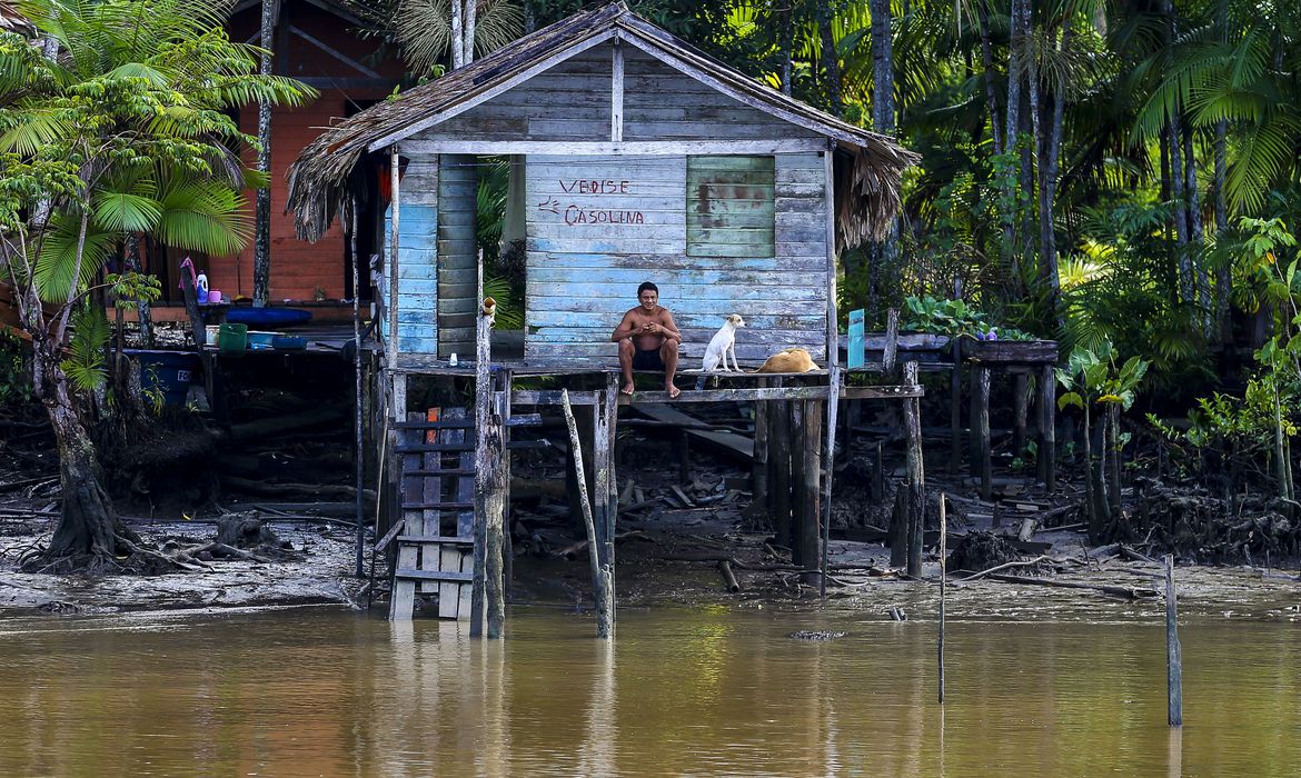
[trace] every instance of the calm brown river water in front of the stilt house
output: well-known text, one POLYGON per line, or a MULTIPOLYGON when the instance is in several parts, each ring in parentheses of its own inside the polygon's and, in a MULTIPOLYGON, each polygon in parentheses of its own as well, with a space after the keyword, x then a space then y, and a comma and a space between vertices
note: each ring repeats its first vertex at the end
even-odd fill
POLYGON ((0 621, 0 775, 1298 775, 1301 624, 514 608, 509 639, 337 608, 0 621), (837 630, 809 643, 795 630, 837 630))

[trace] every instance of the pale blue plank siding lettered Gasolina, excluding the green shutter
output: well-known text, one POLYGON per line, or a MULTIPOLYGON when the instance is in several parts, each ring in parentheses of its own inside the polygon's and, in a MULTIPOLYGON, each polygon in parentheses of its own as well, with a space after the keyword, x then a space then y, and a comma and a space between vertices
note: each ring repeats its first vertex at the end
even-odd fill
POLYGON ((686 157, 528 157, 526 355, 614 358, 610 333, 653 281, 683 332, 683 367, 699 367, 729 314, 749 325, 736 338, 743 360, 790 346, 825 360, 822 157, 771 159, 771 255, 734 243, 688 256, 686 157))

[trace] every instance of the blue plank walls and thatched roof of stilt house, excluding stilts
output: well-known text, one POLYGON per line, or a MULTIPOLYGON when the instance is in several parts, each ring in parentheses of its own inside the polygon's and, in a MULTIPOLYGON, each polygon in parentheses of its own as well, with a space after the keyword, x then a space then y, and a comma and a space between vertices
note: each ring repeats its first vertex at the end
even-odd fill
POLYGON ((913 159, 617 3, 324 133, 290 173, 299 237, 330 234, 349 177, 390 151, 397 351, 472 351, 477 163, 509 155, 505 238, 527 250, 523 356, 541 362, 613 359, 610 330, 650 280, 688 359, 740 314, 742 360, 803 346, 821 363, 835 250, 889 226, 913 159))

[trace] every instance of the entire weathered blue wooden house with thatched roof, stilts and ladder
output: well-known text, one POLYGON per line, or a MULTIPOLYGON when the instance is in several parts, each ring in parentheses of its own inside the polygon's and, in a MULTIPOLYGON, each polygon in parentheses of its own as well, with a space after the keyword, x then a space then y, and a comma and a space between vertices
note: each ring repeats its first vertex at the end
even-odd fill
MULTIPOLYGON (((384 159, 392 183, 379 398, 390 432, 384 461, 401 462, 393 481, 401 498, 393 502, 399 509, 393 530, 376 548, 396 541, 399 549, 394 618, 410 618, 419 587, 438 592, 444 614, 464 617, 457 604, 468 602, 472 634, 485 619, 488 636, 501 635, 505 441, 527 422, 511 409, 563 402, 593 409, 591 458, 583 459, 591 464, 591 548, 600 557, 593 567, 604 582, 596 584, 598 631, 610 634, 618 406, 671 399, 665 392, 622 397, 615 382, 610 334, 648 280, 683 332, 684 368, 729 314, 749 324, 736 338, 742 363, 803 346, 826 366, 799 380, 778 376, 769 386, 688 390, 679 398, 756 402, 757 427, 774 429, 799 416, 799 435, 778 446, 799 475, 778 471, 803 494, 799 507, 782 510, 787 524, 798 524, 794 546, 807 567, 825 565, 831 479, 818 461, 834 451, 837 401, 905 401, 908 527, 916 541, 909 569, 913 561, 920 567, 916 363, 899 385, 844 385, 835 325, 837 251, 889 229, 913 155, 757 83, 613 3, 324 131, 290 169, 298 235, 319 239, 341 216, 356 220, 354 233, 367 232, 353 203, 384 159), (510 160, 503 237, 526 252, 516 353, 492 346, 490 316, 480 307, 474 228, 484 157, 510 160), (450 363, 451 354, 461 364, 450 363), (575 373, 604 377, 604 389, 588 382, 562 394, 513 384, 514 376, 575 373), (463 418, 433 420, 425 409, 407 407, 411 375, 474 376, 472 445, 470 436, 461 442, 463 418), (769 416, 766 401, 785 405, 769 416), (441 470, 440 457, 462 449, 461 461, 441 470), (468 497, 472 513, 464 511, 468 497), (474 596, 458 587, 472 587, 474 596)), ((870 367, 889 372, 891 358, 870 367)), ((747 376, 731 380, 753 384, 747 376)), ((576 428, 571 436, 578 438, 576 428)), ((756 432, 756 455, 757 438, 756 432)))

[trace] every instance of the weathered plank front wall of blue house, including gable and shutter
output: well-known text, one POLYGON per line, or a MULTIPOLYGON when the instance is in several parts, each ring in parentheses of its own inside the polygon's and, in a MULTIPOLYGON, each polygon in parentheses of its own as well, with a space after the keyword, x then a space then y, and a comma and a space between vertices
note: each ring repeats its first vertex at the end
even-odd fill
MULTIPOLYGON (((601 46, 422 131, 405 147, 433 151, 440 141, 471 139, 609 142, 610 92, 611 51, 601 46)), ((623 105, 624 141, 816 138, 630 47, 624 47, 623 105)), ((451 170, 474 170, 459 161, 464 159, 442 156, 444 176, 436 190, 442 198, 433 247, 440 272, 437 323, 428 320, 428 307, 415 307, 427 320, 418 342, 406 338, 403 329, 403 351, 432 353, 431 334, 442 338, 437 351, 444 356, 453 350, 468 351, 459 334, 451 334, 462 329, 462 311, 449 302, 459 297, 463 265, 448 256, 448 251, 464 254, 464 246, 453 243, 457 228, 472 230, 470 213, 450 202, 467 202, 449 177, 451 170), (450 164, 451 159, 458 163, 450 164)), ((816 360, 826 359, 821 155, 535 154, 527 157, 524 176, 527 356, 613 360, 615 346, 609 334, 619 316, 636 304, 637 285, 649 280, 660 286, 662 304, 683 329, 684 367, 693 367, 691 360, 703 356, 729 314, 740 314, 749 325, 736 338, 742 360, 758 362, 790 346, 808 349, 816 360), (688 221, 690 209, 695 211, 688 221)), ((411 189, 405 181, 403 241, 411 189)), ((472 203, 472 189, 468 194, 472 203)), ((468 241, 472 259, 472 237, 468 241)), ((403 277, 407 247, 403 242, 403 277)), ((399 314, 406 316, 409 310, 402 306, 399 314)))

